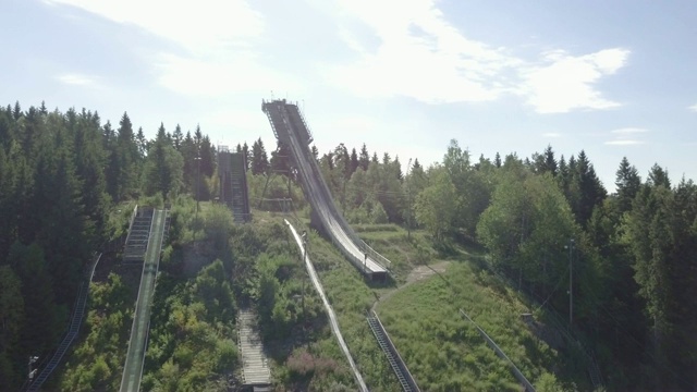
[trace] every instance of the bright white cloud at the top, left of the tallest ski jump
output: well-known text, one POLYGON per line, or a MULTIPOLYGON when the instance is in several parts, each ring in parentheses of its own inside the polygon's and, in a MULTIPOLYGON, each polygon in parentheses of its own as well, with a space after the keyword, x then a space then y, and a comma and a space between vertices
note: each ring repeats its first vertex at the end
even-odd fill
POLYGON ((240 91, 288 90, 286 75, 260 65, 254 45, 265 32, 262 16, 245 0, 91 1, 45 0, 69 4, 164 38, 183 53, 148 54, 158 81, 173 91, 219 97, 240 91))

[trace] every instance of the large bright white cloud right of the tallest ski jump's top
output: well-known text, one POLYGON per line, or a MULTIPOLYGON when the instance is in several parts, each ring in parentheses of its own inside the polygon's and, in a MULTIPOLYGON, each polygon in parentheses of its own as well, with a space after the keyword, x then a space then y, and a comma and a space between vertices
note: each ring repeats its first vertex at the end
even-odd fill
POLYGON ((540 113, 610 109, 596 84, 626 64, 629 51, 614 48, 584 56, 564 50, 524 60, 506 48, 466 38, 448 22, 436 0, 338 0, 340 37, 358 54, 350 64, 325 70, 329 82, 358 96, 403 96, 427 103, 491 101, 521 96, 540 113), (355 21, 379 45, 366 49, 355 21), (352 34, 356 30, 356 34, 352 34))

